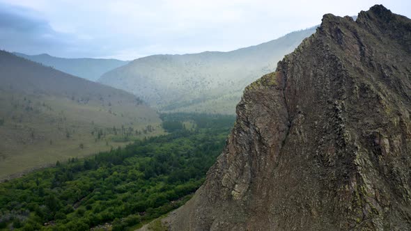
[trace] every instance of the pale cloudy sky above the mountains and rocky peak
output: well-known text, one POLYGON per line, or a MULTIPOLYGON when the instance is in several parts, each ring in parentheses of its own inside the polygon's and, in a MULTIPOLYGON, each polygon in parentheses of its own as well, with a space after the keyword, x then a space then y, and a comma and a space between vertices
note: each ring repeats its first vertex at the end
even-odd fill
POLYGON ((411 18, 410 0, 0 0, 0 49, 122 60, 231 51, 377 3, 411 18))

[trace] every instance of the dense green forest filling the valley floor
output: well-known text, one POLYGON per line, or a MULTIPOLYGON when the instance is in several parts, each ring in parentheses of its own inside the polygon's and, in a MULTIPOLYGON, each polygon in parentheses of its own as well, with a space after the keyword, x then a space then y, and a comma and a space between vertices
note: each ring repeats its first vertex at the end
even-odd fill
POLYGON ((1 183, 0 230, 98 230, 106 223, 127 230, 183 205, 222 152, 235 117, 161 118, 166 135, 1 183))

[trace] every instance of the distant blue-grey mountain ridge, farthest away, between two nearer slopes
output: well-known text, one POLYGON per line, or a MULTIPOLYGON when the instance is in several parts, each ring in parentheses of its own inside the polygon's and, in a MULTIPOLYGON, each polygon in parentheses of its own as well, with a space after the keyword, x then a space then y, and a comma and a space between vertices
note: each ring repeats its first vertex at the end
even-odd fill
POLYGON ((22 53, 13 53, 30 61, 41 63, 42 65, 54 67, 57 70, 72 74, 77 77, 82 77, 91 81, 96 81, 105 72, 121 67, 128 61, 117 59, 103 58, 59 58, 49 56, 48 54, 26 55, 22 53))

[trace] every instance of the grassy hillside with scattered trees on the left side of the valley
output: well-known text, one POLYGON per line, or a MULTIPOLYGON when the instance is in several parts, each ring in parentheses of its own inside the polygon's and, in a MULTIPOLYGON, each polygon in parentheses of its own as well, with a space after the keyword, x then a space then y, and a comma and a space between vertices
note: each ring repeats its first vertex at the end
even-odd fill
POLYGON ((141 99, 0 51, 0 179, 160 133, 141 99))

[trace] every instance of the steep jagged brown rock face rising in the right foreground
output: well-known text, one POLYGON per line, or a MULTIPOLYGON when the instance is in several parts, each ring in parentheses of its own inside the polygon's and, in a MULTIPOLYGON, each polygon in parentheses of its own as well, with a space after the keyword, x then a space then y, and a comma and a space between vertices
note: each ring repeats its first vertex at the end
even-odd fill
POLYGON ((251 83, 171 230, 411 230, 411 20, 324 15, 251 83))

